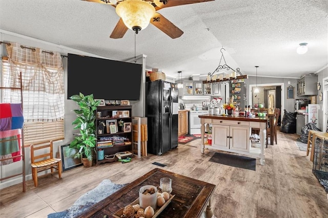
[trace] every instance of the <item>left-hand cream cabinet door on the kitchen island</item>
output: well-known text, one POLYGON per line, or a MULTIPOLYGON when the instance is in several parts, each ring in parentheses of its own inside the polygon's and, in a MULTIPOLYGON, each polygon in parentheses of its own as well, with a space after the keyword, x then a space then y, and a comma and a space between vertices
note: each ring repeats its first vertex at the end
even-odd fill
POLYGON ((212 124, 212 146, 229 149, 230 126, 212 124))

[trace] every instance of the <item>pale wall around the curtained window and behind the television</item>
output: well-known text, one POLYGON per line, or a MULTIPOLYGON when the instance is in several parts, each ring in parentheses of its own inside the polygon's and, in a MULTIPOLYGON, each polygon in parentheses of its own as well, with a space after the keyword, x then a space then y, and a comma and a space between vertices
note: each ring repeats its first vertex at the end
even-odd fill
MULTIPOLYGON (((73 54, 80 54, 80 55, 87 55, 92 57, 99 57, 99 58, 106 58, 101 57, 98 55, 90 54, 87 52, 75 50, 72 48, 68 48, 65 46, 55 45, 53 43, 38 40, 35 38, 27 37, 24 35, 19 35, 16 33, 8 32, 5 30, 0 30, 0 41, 4 42, 17 42, 21 45, 25 45, 27 47, 36 47, 36 48, 42 48, 46 51, 54 51, 59 52, 61 55, 68 55, 68 53, 73 54)), ((5 43, 2 43, 0 45, 0 55, 1 56, 7 56, 5 43)), ((132 59, 131 59, 132 60, 132 59)), ((134 58, 133 58, 134 60, 134 58)), ((143 63, 143 66, 146 66, 146 56, 145 55, 139 55, 136 57, 137 63, 143 63)), ((129 61, 127 61, 129 62, 129 61)), ((1 64, 0 64, 1 65, 1 64)), ((64 66, 64 82, 65 82, 65 90, 67 90, 67 57, 63 58, 63 66, 64 66)), ((144 67, 144 72, 145 67, 144 67)), ((0 69, 0 73, 2 72, 2 69, 0 69)), ((1 79, 1 77, 0 77, 1 79)), ((145 111, 144 111, 144 98, 145 98, 145 81, 146 81, 146 74, 143 74, 142 81, 141 81, 141 96, 140 101, 132 101, 130 104, 132 105, 132 114, 133 116, 139 116, 144 117, 145 111)), ((54 142, 54 151, 59 152, 60 145, 69 144, 73 140, 73 126, 72 122, 75 120, 76 115, 74 114, 73 110, 77 108, 77 104, 67 99, 67 94, 65 94, 65 140, 54 142)), ((77 133, 76 130, 74 130, 74 133, 77 133)), ((30 161, 30 149, 29 147, 25 148, 25 160, 26 160, 26 180, 31 180, 31 161, 30 161)), ((17 173, 22 172, 22 161, 18 161, 9 165, 0 166, 0 177, 5 178, 11 175, 15 175, 17 173)), ((65 175, 64 175, 65 176, 65 175)), ((15 184, 22 183, 23 179, 22 176, 13 177, 7 180, 3 180, 0 183, 0 189, 9 187, 15 184)))

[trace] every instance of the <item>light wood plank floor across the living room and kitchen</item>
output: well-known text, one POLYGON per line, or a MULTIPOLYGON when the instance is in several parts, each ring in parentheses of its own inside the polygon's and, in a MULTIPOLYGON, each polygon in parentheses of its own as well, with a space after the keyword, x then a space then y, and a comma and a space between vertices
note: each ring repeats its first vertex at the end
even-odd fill
POLYGON ((63 172, 61 180, 51 176, 39 179, 36 188, 29 180, 25 193, 21 184, 0 190, 0 217, 47 217, 69 208, 104 179, 124 184, 161 168, 153 162, 215 184, 212 208, 217 217, 328 217, 327 193, 312 173, 310 157, 296 146, 297 138, 278 130, 278 144, 265 148, 265 165, 256 160, 256 171, 210 162, 215 150, 206 149, 201 154, 200 139, 162 156, 77 167, 63 172))

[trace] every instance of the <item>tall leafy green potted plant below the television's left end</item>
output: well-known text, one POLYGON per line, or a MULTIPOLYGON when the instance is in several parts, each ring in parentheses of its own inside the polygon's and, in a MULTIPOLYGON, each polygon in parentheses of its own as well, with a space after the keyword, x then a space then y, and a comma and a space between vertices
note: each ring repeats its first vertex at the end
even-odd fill
POLYGON ((80 133, 70 143, 70 148, 76 148, 78 152, 74 158, 82 158, 84 166, 89 167, 92 166, 96 146, 95 111, 100 101, 94 100, 93 94, 85 96, 82 93, 73 95, 70 99, 80 107, 74 110, 77 118, 72 122, 72 125, 75 125, 74 129, 79 129, 80 133))

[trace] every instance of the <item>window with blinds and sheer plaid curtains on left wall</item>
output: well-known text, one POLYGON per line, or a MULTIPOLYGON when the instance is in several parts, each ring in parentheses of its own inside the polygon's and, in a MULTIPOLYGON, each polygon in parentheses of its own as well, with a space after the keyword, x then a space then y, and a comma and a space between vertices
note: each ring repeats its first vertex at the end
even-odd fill
MULTIPOLYGON (((2 58, 2 86, 19 87, 22 72, 24 144, 64 139, 64 70, 59 53, 6 45, 2 58)), ((2 102, 21 102, 20 90, 4 90, 2 102)))

